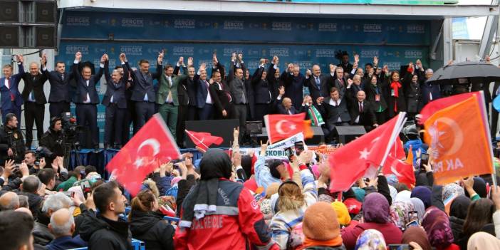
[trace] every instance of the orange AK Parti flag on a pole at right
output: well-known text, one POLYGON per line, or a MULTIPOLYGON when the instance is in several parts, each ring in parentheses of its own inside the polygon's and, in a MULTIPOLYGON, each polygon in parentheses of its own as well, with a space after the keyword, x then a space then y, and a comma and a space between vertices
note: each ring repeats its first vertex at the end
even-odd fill
POLYGON ((434 182, 447 184, 470 175, 493 173, 489 127, 482 93, 437 111, 425 121, 431 142, 434 182))

